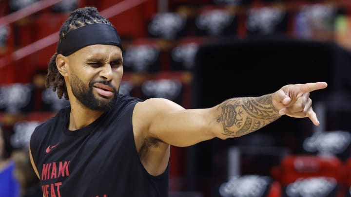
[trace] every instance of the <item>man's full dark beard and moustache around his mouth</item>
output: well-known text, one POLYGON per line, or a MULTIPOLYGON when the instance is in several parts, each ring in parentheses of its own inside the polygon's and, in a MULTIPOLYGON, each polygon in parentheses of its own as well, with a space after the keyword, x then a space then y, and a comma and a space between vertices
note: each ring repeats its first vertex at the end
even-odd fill
POLYGON ((98 111, 107 111, 114 107, 117 101, 116 94, 118 93, 118 91, 109 82, 91 81, 88 86, 85 86, 83 81, 80 80, 78 76, 74 73, 71 74, 71 79, 72 93, 84 107, 98 111), (96 98, 96 96, 93 93, 93 85, 95 83, 100 83, 111 87, 114 90, 115 94, 110 99, 104 96, 101 96, 101 99, 96 98))

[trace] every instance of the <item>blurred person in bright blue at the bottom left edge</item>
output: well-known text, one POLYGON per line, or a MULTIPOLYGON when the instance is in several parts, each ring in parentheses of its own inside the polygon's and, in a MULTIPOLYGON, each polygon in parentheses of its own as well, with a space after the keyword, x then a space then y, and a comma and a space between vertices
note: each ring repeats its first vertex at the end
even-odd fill
POLYGON ((0 197, 19 197, 20 183, 14 172, 15 162, 6 157, 5 140, 0 128, 0 197))

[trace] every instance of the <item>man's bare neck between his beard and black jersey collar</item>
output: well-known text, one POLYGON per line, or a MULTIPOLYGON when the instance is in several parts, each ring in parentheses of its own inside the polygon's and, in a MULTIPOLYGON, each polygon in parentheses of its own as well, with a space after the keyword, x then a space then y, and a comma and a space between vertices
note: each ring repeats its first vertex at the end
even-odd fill
POLYGON ((75 102, 76 105, 72 105, 71 102, 71 113, 69 119, 69 130, 77 130, 93 123, 98 117, 100 117, 104 111, 97 111, 89 109, 82 104, 78 104, 78 101, 75 102))

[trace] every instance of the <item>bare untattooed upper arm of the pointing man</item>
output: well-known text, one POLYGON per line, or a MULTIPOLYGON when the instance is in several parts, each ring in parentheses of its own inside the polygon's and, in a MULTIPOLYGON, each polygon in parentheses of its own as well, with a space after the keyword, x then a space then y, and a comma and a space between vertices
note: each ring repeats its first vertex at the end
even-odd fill
POLYGON ((184 109, 165 99, 151 100, 148 107, 150 137, 174 146, 190 146, 215 137, 212 131, 218 124, 213 108, 184 109))

